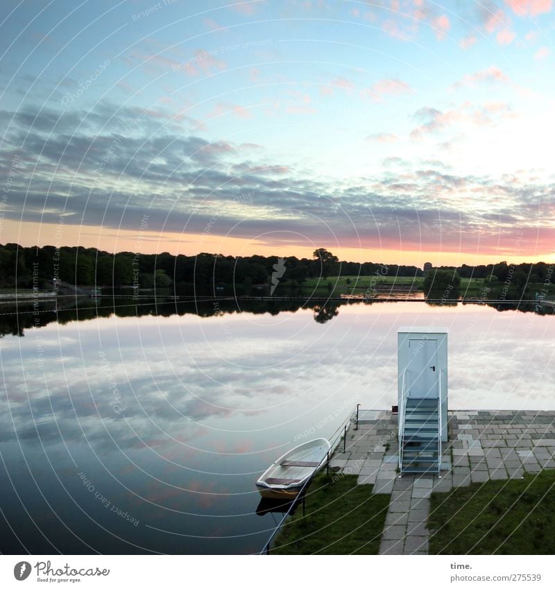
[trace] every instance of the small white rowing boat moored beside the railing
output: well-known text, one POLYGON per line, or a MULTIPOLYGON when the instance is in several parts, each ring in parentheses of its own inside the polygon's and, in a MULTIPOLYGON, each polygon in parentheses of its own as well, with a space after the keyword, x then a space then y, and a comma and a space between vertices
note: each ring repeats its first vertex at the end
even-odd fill
POLYGON ((307 479, 325 465, 330 448, 325 438, 317 438, 289 450, 256 481, 260 495, 268 499, 292 499, 298 495, 307 479))

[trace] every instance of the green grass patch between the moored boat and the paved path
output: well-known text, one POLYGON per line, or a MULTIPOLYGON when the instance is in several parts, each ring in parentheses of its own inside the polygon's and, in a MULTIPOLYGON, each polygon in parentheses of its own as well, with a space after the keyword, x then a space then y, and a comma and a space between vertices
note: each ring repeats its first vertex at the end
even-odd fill
POLYGON ((285 522, 272 554, 377 554, 389 495, 372 495, 356 475, 314 477, 302 504, 285 522))

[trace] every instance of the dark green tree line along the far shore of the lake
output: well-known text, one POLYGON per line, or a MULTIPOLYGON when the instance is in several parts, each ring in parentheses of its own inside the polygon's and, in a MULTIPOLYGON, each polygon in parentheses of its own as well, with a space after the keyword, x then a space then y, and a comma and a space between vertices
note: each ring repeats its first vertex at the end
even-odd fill
MULTIPOLYGON (((325 248, 314 250, 312 258, 252 255, 224 256, 213 253, 198 255, 109 253, 83 247, 22 247, 0 244, 0 287, 51 289, 53 279, 69 284, 91 287, 164 288, 176 292, 186 286, 198 289, 218 289, 223 285, 239 285, 248 289, 268 285, 276 269, 289 284, 302 285, 309 278, 336 276, 404 276, 420 278, 422 269, 416 266, 379 264, 375 262, 340 262, 325 248)), ((513 287, 552 281, 553 265, 488 264, 457 268, 441 266, 432 270, 452 273, 461 278, 481 278, 493 284, 511 282, 513 287)), ((443 272, 442 272, 443 273, 443 272)), ((435 286, 435 285, 434 285, 435 286)), ((439 287, 439 284, 438 284, 439 287)))

